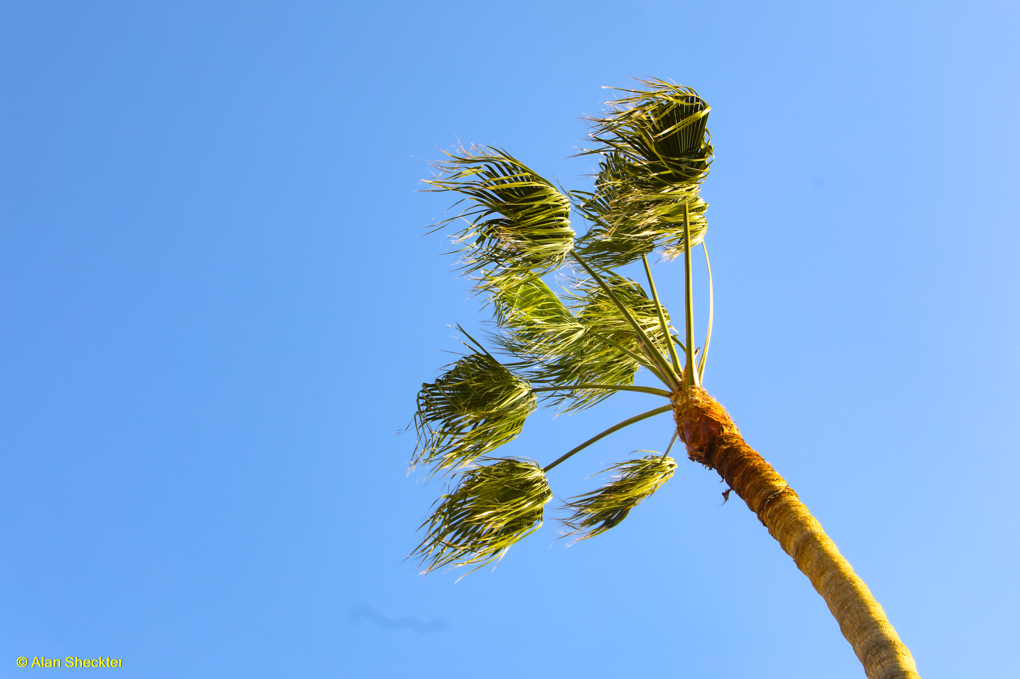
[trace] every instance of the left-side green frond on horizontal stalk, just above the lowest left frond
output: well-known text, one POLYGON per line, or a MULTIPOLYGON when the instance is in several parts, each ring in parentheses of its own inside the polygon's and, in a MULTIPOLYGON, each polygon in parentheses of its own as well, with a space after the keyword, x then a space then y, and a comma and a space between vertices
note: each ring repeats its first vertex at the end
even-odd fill
POLYGON ((527 380, 484 353, 461 358, 421 385, 414 424, 414 464, 463 465, 520 433, 536 410, 527 380))

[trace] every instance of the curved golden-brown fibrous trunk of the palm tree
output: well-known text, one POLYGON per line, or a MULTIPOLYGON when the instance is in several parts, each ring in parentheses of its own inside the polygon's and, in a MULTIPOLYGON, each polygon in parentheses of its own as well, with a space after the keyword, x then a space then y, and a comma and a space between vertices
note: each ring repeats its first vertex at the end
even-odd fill
POLYGON ((869 679, 919 679, 868 586, 839 554, 786 481, 750 446, 729 415, 700 387, 674 395, 673 416, 687 456, 715 469, 793 557, 839 623, 869 679))

